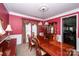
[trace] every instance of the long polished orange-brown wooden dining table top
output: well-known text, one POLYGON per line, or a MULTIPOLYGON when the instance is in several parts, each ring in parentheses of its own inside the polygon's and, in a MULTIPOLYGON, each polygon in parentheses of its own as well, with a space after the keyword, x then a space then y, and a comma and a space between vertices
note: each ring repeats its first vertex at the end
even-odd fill
POLYGON ((66 51, 62 51, 63 49, 71 49, 72 46, 68 44, 62 44, 57 41, 52 41, 51 43, 46 41, 44 38, 39 37, 39 46, 50 56, 67 56, 66 51))

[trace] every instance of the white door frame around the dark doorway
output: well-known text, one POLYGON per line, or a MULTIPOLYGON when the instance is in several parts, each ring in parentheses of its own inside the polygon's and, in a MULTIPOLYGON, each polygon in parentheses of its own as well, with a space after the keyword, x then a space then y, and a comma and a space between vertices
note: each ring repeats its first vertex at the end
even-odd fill
POLYGON ((68 15, 68 16, 64 16, 61 17, 61 36, 63 36, 63 32, 62 32, 62 27, 63 27, 63 23, 62 23, 62 19, 63 18, 67 18, 67 17, 71 17, 71 16, 76 16, 76 48, 77 48, 77 40, 78 40, 78 14, 73 14, 73 15, 68 15))

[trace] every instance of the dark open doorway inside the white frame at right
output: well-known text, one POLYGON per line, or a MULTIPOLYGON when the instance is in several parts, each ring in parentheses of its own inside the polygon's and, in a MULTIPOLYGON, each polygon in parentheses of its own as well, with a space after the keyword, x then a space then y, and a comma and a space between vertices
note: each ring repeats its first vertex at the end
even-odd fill
POLYGON ((77 16, 62 18, 62 39, 63 43, 72 45, 76 49, 76 28, 77 16))

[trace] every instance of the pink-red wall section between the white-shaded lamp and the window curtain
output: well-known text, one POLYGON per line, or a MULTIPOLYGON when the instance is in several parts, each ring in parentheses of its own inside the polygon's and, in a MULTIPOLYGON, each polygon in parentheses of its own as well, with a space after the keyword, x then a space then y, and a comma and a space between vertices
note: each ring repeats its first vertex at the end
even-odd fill
POLYGON ((11 34, 21 34, 22 33, 22 17, 9 15, 9 23, 12 27, 11 34))

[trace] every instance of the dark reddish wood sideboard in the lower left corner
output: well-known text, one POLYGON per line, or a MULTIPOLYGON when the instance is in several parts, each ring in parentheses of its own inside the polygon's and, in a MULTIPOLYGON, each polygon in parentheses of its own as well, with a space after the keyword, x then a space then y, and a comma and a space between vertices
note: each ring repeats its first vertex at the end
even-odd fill
POLYGON ((2 51, 2 56, 15 56, 16 55, 16 39, 4 40, 0 44, 0 49, 2 51))

